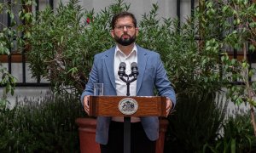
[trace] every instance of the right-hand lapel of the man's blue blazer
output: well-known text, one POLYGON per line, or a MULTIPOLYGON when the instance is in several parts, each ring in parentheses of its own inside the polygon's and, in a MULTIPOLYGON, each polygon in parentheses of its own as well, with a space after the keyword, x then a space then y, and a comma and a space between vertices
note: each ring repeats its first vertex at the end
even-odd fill
POLYGON ((143 82, 143 76, 144 76, 144 71, 147 65, 147 52, 143 48, 140 48, 137 46, 137 65, 138 65, 138 72, 139 75, 137 76, 137 92, 140 90, 143 82))

